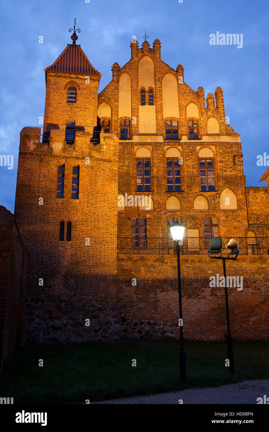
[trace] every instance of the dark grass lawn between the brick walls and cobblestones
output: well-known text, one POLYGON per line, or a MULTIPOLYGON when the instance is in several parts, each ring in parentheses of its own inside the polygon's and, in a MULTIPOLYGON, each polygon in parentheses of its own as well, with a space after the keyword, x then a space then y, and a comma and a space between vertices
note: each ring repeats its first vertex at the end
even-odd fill
POLYGON ((269 378, 269 342, 234 341, 233 347, 231 376, 225 341, 186 340, 187 382, 182 384, 174 340, 27 344, 5 362, 0 397, 14 397, 14 403, 85 403, 269 378))

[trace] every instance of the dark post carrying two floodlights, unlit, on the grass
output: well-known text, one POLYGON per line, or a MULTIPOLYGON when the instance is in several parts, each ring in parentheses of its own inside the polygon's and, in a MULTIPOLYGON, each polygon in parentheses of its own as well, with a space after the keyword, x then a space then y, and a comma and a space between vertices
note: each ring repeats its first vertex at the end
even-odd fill
POLYGON ((207 251, 207 254, 212 259, 218 259, 222 260, 223 265, 223 274, 224 274, 224 280, 225 280, 225 304, 226 304, 226 320, 227 320, 227 352, 228 352, 228 359, 229 359, 229 372, 230 374, 234 374, 234 354, 233 354, 233 343, 232 343, 232 337, 231 337, 231 330, 230 330, 230 318, 229 318, 229 307, 228 307, 228 292, 227 292, 227 279, 226 279, 226 264, 225 260, 236 260, 237 256, 239 254, 238 243, 236 240, 231 239, 226 245, 226 248, 229 249, 228 251, 228 257, 222 256, 222 239, 220 237, 210 237, 209 241, 209 249, 207 251), (212 257, 209 254, 220 254, 218 257, 212 257), (231 255, 235 255, 235 257, 231 257, 231 255))

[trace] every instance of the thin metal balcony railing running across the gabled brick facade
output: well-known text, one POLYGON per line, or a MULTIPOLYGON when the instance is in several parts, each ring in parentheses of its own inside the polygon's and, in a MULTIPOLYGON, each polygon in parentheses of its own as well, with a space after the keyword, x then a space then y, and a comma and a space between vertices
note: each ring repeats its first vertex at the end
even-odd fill
MULTIPOLYGON (((231 238, 235 238, 241 255, 269 254, 269 237, 222 237, 222 251, 231 238)), ((167 237, 147 237, 137 239, 131 237, 117 238, 119 254, 133 255, 173 255, 174 241, 167 237)), ((181 246, 183 255, 206 255, 209 239, 204 237, 184 237, 181 246)))

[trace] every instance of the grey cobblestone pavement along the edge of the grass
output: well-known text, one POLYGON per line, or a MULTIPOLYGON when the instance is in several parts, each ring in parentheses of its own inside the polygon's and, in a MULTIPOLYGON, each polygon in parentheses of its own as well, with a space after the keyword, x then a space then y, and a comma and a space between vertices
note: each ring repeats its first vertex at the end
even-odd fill
POLYGON ((149 396, 126 397, 123 399, 104 400, 103 402, 91 403, 160 403, 178 404, 183 403, 241 403, 256 404, 257 397, 266 394, 269 397, 269 380, 243 381, 237 384, 221 385, 220 387, 189 388, 182 391, 170 393, 151 394, 149 396))

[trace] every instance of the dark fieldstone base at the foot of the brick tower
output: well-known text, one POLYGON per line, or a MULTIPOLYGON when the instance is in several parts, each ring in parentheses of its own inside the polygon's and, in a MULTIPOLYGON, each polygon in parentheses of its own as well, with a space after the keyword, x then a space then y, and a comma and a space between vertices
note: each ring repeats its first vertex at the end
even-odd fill
POLYGON ((117 305, 96 303, 92 297, 67 295, 31 297, 26 302, 24 342, 120 341, 117 305))

